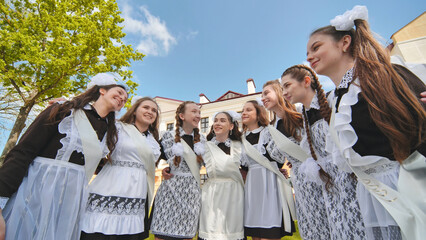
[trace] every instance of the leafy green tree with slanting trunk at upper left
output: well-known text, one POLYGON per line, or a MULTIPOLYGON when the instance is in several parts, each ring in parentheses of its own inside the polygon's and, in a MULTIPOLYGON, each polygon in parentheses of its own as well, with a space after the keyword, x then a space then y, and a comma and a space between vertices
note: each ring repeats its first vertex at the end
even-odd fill
POLYGON ((21 101, 2 158, 34 105, 78 94, 100 72, 135 90, 127 67, 144 55, 121 41, 119 14, 115 0, 0 0, 0 84, 21 101))

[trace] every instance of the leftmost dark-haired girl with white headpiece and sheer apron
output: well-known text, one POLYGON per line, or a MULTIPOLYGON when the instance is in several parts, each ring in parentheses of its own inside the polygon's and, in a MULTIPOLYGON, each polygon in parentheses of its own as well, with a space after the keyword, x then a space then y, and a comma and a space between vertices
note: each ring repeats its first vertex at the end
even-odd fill
POLYGON ((115 111, 126 100, 123 86, 98 74, 37 116, 0 168, 0 236, 4 218, 6 239, 79 239, 87 183, 115 148, 115 111))

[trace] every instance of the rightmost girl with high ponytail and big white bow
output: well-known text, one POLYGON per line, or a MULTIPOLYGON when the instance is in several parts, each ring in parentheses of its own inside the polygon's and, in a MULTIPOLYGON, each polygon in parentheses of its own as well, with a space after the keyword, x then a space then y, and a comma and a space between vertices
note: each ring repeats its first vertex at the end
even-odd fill
POLYGON ((426 111, 418 98, 425 85, 391 64, 367 18, 367 8, 355 6, 307 44, 311 67, 336 85, 326 149, 357 175, 368 239, 423 239, 426 111))

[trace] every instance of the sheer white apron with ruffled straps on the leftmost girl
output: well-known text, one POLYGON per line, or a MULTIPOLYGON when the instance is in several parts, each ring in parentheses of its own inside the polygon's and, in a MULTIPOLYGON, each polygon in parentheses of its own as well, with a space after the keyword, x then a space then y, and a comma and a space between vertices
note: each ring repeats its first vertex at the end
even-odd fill
MULTIPOLYGON (((79 220, 87 202, 87 171, 85 166, 68 162, 73 151, 83 152, 75 116, 79 115, 81 124, 90 126, 82 110, 72 111, 58 126, 59 133, 66 134, 61 139, 63 147, 55 159, 36 157, 28 169, 18 191, 12 196, 3 210, 6 221, 6 239, 19 240, 77 240, 80 238, 79 220)), ((93 128, 89 131, 94 133, 93 128)), ((94 133, 101 154, 108 149, 94 133)), ((92 135, 93 137, 93 135, 92 135)), ((92 154, 92 155, 96 155, 92 154)))

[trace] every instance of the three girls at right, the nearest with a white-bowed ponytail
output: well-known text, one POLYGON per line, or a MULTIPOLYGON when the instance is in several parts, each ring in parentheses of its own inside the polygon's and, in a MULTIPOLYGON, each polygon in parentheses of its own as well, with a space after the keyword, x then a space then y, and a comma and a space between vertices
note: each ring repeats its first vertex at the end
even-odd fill
POLYGON ((356 6, 310 36, 308 62, 336 85, 328 99, 304 65, 284 71, 282 93, 278 81, 263 88, 265 107, 300 133, 300 141, 282 130, 272 136, 292 166, 303 239, 426 236, 426 87, 391 64, 366 19, 366 8, 356 6), (282 95, 302 104, 299 114, 280 104, 282 95))

